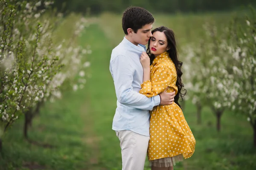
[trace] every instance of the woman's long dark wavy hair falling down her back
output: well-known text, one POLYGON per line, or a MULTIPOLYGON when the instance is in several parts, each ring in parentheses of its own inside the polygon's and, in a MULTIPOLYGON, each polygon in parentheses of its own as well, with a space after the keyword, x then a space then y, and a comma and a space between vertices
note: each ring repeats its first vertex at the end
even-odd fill
MULTIPOLYGON (((169 50, 167 52, 169 53, 169 57, 172 59, 172 61, 175 64, 175 68, 176 68, 176 71, 177 71, 176 85, 177 85, 177 88, 178 88, 178 92, 174 97, 174 102, 180 107, 180 104, 179 104, 178 100, 179 100, 180 97, 183 100, 183 96, 185 96, 185 94, 186 94, 186 89, 184 89, 184 85, 181 81, 181 76, 183 74, 182 71, 181 71, 181 66, 182 66, 183 62, 180 62, 178 60, 177 43, 176 43, 176 40, 175 40, 175 34, 171 29, 169 29, 167 27, 164 27, 164 26, 160 26, 158 28, 155 28, 152 31, 152 34, 154 34, 154 32, 156 32, 156 31, 160 31, 160 32, 163 32, 165 34, 167 42, 168 42, 167 47, 169 48, 169 50), (183 93, 183 91, 184 91, 184 93, 183 93)), ((150 38, 150 40, 151 40, 151 38, 150 38)), ((147 54, 150 58, 150 64, 152 64, 155 57, 154 57, 154 54, 151 54, 150 49, 149 49, 150 40, 148 41, 147 54)))

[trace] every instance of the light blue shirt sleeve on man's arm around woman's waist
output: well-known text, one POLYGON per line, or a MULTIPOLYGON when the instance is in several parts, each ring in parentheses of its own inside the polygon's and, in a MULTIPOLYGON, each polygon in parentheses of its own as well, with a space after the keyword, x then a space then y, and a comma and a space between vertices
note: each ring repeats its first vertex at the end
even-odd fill
POLYGON ((154 106, 160 104, 159 95, 148 98, 143 94, 133 91, 134 69, 127 62, 125 56, 117 56, 110 64, 116 97, 121 104, 143 110, 152 110, 154 106))

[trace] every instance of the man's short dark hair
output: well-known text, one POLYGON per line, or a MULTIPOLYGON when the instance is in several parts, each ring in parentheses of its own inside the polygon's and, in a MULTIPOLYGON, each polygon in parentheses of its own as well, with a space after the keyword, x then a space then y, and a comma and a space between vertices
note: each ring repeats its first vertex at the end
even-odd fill
POLYGON ((127 29, 131 28, 135 33, 146 24, 154 23, 154 17, 150 12, 141 7, 129 7, 122 16, 122 28, 127 35, 127 29))

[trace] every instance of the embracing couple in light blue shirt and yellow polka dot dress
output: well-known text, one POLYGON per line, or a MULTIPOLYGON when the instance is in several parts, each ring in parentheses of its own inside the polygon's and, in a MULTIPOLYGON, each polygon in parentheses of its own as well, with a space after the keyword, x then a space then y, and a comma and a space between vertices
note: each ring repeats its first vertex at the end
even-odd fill
POLYGON ((154 17, 140 7, 122 16, 125 37, 111 54, 117 108, 112 129, 120 140, 122 170, 173 170, 195 151, 195 138, 178 103, 182 62, 174 32, 152 30, 154 17), (146 49, 146 46, 147 49, 146 49))

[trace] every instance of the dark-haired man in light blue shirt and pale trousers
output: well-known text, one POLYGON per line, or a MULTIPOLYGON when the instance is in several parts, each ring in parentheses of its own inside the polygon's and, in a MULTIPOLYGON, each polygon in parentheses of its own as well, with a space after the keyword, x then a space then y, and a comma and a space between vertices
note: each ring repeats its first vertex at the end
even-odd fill
POLYGON ((139 94, 143 83, 140 56, 152 36, 154 17, 140 7, 130 7, 122 16, 125 37, 113 49, 110 71, 114 80, 117 108, 112 129, 120 140, 122 170, 143 170, 149 141, 149 111, 171 105, 175 93, 163 92, 148 98, 139 94))

